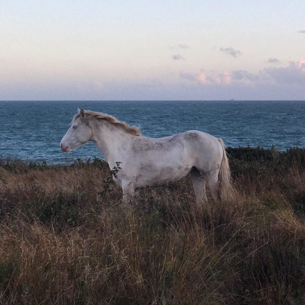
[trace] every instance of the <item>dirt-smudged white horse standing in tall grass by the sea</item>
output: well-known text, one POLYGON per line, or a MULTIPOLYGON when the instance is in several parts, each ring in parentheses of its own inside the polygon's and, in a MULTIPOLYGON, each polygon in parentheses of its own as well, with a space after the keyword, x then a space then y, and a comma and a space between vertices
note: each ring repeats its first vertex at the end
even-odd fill
POLYGON ((206 183, 215 200, 231 191, 231 176, 224 143, 212 135, 189 130, 163 138, 143 137, 135 126, 128 126, 105 113, 78 109, 71 127, 60 141, 63 152, 94 142, 110 169, 121 162, 113 179, 123 189, 124 202, 135 188, 178 180, 191 175, 197 203, 206 203, 206 183))

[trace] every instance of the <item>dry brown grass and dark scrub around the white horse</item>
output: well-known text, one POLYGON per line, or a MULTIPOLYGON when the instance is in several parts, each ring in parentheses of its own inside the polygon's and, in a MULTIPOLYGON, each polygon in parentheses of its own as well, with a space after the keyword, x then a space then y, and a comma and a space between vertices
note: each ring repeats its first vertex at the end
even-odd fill
POLYGON ((1 159, 0 304, 304 304, 305 149, 227 152, 202 210, 189 177, 126 206, 99 159, 1 159))

